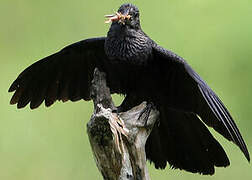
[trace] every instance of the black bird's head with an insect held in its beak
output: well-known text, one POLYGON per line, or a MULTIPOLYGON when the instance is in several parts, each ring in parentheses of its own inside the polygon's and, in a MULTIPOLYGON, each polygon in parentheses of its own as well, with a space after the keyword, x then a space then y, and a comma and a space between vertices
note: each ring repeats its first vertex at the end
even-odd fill
POLYGON ((105 15, 105 23, 119 24, 130 28, 140 28, 139 10, 133 4, 123 4, 115 14, 105 15))

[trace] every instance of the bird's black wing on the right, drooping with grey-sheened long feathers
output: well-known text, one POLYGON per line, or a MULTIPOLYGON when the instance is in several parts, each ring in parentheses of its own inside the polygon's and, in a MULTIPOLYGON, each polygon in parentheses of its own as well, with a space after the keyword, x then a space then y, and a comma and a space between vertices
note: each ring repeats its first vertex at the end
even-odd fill
POLYGON ((204 123, 238 145, 249 161, 249 152, 239 129, 213 90, 173 52, 156 45, 153 54, 159 77, 167 82, 164 92, 168 106, 200 116, 204 123))

